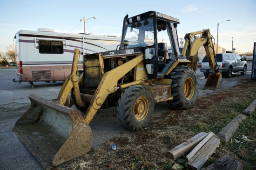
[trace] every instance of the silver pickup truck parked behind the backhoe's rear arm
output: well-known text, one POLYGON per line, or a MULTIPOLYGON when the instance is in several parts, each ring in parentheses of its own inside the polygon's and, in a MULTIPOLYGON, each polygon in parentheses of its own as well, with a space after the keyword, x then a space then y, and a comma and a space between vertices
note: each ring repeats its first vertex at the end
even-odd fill
MULTIPOLYGON (((219 53, 216 54, 216 60, 218 65, 220 65, 220 72, 223 76, 230 78, 232 72, 240 72, 241 75, 246 74, 247 62, 241 58, 238 54, 232 53, 219 53)), ((203 57, 200 66, 200 72, 203 72, 204 76, 207 78, 210 73, 209 62, 207 57, 203 57)))

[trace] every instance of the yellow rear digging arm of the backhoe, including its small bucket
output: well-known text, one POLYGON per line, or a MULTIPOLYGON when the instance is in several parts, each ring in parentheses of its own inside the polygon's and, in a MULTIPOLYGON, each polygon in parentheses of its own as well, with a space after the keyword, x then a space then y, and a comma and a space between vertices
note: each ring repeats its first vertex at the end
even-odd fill
POLYGON ((214 44, 209 29, 203 31, 191 32, 185 35, 185 44, 182 55, 191 61, 190 66, 197 70, 198 60, 197 52, 203 46, 209 61, 211 76, 208 77, 204 85, 206 89, 217 89, 222 85, 222 74, 219 72, 220 65, 217 64, 214 44))

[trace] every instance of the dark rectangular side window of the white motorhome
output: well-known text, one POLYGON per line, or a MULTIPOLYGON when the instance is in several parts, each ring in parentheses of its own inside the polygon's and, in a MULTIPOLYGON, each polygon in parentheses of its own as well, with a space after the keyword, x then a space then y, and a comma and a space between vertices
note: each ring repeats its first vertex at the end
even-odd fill
POLYGON ((63 42, 61 41, 39 41, 39 53, 63 54, 63 42))

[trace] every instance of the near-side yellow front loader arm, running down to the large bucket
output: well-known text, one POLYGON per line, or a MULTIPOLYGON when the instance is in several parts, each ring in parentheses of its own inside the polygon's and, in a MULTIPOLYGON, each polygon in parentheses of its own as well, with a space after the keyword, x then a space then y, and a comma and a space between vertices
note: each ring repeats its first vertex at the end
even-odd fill
MULTIPOLYGON (((99 55, 102 54, 100 53, 99 55)), ((143 59, 143 54, 137 55, 137 57, 135 57, 134 59, 104 74, 94 94, 94 97, 85 113, 85 121, 88 125, 93 120, 96 112, 101 108, 101 105, 108 97, 108 94, 117 91, 117 81, 125 76, 131 69, 135 68, 135 66, 138 65, 143 59)))

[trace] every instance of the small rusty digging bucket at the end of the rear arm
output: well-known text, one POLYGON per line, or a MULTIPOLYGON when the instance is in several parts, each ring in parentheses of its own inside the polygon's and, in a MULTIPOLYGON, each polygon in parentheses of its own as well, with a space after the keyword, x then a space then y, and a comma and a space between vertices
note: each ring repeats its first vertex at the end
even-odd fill
POLYGON ((222 86, 222 74, 219 73, 217 75, 209 74, 206 83, 204 84, 204 89, 212 89, 216 90, 222 86))

